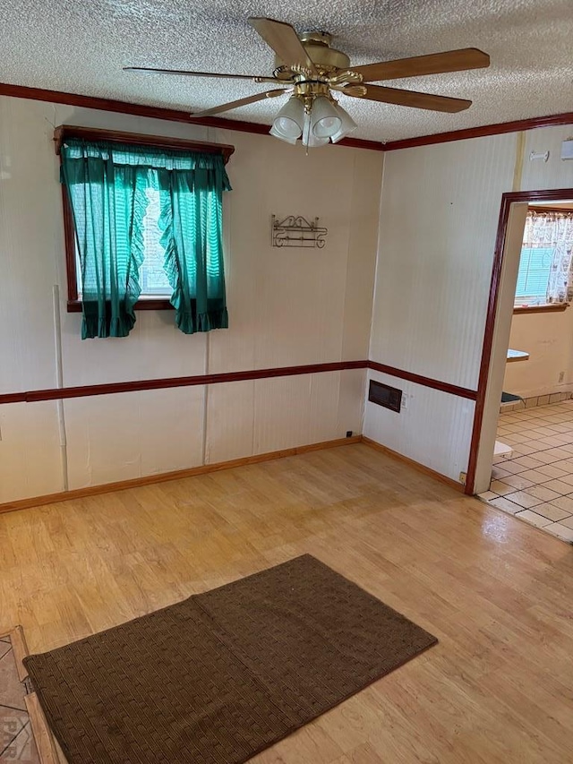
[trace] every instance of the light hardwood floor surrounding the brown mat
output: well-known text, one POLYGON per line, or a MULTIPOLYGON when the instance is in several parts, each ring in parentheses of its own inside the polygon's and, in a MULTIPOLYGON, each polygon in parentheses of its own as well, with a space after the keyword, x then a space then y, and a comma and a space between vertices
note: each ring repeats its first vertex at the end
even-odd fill
POLYGON ((573 547, 364 444, 0 516, 0 627, 54 648, 303 553, 440 644, 253 764, 573 760, 573 547))

